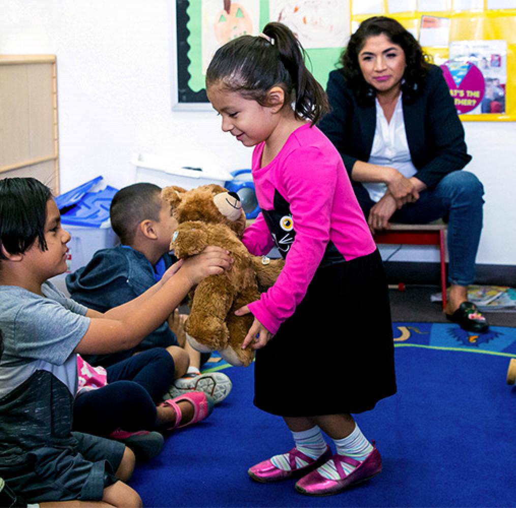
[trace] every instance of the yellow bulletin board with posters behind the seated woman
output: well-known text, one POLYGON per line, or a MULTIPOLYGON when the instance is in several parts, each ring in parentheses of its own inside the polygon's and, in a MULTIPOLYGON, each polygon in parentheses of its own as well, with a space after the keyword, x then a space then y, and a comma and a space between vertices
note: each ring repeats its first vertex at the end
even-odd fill
POLYGON ((351 0, 351 32, 396 19, 441 65, 462 121, 516 120, 515 0, 351 0))

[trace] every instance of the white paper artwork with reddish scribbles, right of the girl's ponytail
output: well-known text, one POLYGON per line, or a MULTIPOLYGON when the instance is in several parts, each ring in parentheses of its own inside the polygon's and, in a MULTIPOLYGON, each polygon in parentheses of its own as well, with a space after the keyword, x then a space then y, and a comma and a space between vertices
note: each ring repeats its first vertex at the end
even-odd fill
POLYGON ((343 47, 349 36, 342 0, 269 0, 269 17, 287 25, 304 48, 343 47))

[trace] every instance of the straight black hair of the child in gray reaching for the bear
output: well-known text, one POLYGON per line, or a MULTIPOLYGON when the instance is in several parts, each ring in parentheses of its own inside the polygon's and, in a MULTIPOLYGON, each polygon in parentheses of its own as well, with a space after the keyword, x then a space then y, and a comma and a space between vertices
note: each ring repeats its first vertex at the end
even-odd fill
MULTIPOLYGON (((23 254, 36 239, 46 251, 46 203, 52 191, 36 178, 0 180, 0 243, 9 254, 23 254)), ((0 259, 7 259, 0 251, 0 259)))

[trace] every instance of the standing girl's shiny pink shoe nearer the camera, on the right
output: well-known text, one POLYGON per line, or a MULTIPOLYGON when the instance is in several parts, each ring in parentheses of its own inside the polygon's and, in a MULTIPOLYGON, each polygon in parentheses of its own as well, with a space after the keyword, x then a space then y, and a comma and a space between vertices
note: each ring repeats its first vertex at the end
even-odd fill
MULTIPOLYGON (((374 446, 374 443, 373 443, 374 446)), ((382 470, 382 458, 376 447, 362 461, 356 461, 352 457, 346 455, 333 455, 333 461, 337 468, 339 480, 328 480, 321 476, 317 471, 312 471, 307 476, 301 478, 296 483, 296 490, 307 496, 330 496, 338 494, 351 485, 363 482, 375 476, 382 470), (346 476, 342 469, 342 463, 345 462, 356 469, 346 476)))

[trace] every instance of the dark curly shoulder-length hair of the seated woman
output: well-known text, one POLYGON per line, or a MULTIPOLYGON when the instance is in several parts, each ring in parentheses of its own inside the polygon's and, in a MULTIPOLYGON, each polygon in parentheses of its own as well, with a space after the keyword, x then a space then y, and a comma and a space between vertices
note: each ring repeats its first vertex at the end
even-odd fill
POLYGON ((407 68, 403 75, 401 90, 410 100, 421 91, 421 85, 426 78, 429 64, 426 55, 414 36, 400 23, 385 16, 368 18, 351 35, 348 45, 341 54, 339 63, 349 87, 361 104, 367 104, 374 100, 375 91, 362 75, 358 61, 358 55, 369 37, 385 34, 391 42, 401 46, 405 53, 407 68))

